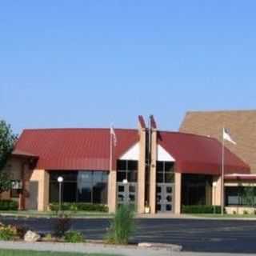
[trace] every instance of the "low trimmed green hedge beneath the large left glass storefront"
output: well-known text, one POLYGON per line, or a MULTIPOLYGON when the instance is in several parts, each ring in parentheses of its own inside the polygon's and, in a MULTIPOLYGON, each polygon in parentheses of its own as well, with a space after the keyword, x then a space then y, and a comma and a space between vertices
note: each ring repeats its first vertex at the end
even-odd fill
MULTIPOLYGON (((50 210, 52 211, 58 211, 57 202, 51 203, 49 207, 50 207, 50 210)), ((108 207, 105 205, 85 203, 85 202, 77 202, 77 203, 64 202, 62 203, 62 210, 99 211, 104 213, 107 213, 109 211, 108 207)))

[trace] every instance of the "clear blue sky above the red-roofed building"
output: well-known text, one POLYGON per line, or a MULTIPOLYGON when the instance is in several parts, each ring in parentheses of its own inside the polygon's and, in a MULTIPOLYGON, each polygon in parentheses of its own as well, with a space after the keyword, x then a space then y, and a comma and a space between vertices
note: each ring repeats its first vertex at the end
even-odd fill
POLYGON ((177 130, 255 109, 254 1, 2 1, 0 118, 23 128, 177 130))

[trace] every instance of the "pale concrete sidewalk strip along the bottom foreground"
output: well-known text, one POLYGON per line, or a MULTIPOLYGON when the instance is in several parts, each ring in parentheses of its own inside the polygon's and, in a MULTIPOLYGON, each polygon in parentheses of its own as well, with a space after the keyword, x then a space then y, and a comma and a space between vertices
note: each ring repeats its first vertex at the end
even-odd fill
POLYGON ((135 246, 103 246, 97 244, 71 244, 53 242, 0 242, 1 249, 37 250, 56 252, 76 252, 92 254, 110 254, 123 256, 253 256, 254 254, 211 254, 193 252, 175 252, 166 249, 138 248, 135 246))

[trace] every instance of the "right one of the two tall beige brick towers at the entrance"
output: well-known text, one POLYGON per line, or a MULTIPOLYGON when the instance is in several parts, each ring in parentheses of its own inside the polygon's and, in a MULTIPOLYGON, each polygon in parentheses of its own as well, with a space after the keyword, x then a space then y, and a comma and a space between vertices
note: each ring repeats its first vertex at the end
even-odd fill
POLYGON ((156 165, 157 165, 157 157, 158 157, 158 131, 156 129, 152 129, 151 134, 151 166, 150 166, 150 213, 156 213, 156 182, 157 182, 157 174, 156 174, 156 165))

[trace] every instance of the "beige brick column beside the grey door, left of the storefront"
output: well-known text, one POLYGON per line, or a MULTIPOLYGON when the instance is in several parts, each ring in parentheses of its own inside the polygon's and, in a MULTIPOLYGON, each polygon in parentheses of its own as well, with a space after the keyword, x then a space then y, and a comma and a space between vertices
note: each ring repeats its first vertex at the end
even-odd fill
POLYGON ((46 170, 33 170, 30 181, 38 182, 38 211, 47 210, 50 189, 49 173, 46 170))

